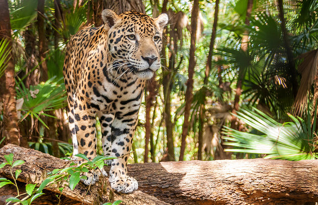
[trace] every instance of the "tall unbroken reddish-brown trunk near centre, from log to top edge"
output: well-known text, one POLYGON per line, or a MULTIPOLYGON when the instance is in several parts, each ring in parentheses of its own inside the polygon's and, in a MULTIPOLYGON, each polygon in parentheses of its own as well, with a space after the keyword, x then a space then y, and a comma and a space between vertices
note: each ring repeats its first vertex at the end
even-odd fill
MULTIPOLYGON (((184 158, 184 150, 186 145, 186 137, 189 131, 189 116, 191 111, 192 104, 192 89, 193 89, 193 74, 194 67, 196 64, 195 59, 195 39, 196 39, 196 29, 197 29, 197 19, 199 15, 199 1, 194 0, 192 14, 191 14, 191 40, 190 40, 190 53, 189 53, 189 68, 188 68, 188 80, 186 82, 187 89, 185 93, 185 107, 184 107, 184 122, 182 125, 182 134, 181 134, 181 149, 179 161, 182 161, 184 158)), ((199 140, 200 144, 200 140, 199 140)), ((200 151, 198 151, 199 154, 200 151)))

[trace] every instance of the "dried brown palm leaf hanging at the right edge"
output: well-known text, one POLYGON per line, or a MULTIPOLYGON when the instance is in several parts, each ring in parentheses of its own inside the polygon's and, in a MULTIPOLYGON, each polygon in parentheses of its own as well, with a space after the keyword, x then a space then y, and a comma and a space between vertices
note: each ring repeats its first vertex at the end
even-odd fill
POLYGON ((301 54, 298 59, 303 59, 298 66, 301 81, 292 109, 294 115, 301 116, 307 108, 307 93, 317 75, 318 49, 301 54))

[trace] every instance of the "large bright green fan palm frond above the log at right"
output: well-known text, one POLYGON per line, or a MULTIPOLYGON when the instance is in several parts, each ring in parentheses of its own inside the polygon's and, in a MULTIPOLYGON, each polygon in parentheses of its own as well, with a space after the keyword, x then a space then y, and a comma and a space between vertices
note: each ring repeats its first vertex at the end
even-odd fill
MULTIPOLYGON (((225 144, 238 147, 226 151, 265 154, 264 158, 268 159, 318 159, 318 153, 315 152, 315 126, 311 127, 311 115, 308 115, 306 121, 288 115, 293 122, 279 123, 257 109, 252 112, 241 110, 237 117, 253 129, 246 133, 225 127, 225 144)), ((314 119, 315 117, 316 115, 314 119)), ((315 125, 315 120, 313 124, 315 125)))

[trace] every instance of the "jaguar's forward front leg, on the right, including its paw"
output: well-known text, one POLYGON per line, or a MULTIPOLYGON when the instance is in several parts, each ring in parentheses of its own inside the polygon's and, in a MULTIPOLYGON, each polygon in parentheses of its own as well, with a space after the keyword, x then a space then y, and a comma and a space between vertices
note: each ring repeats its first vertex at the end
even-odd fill
POLYGON ((112 161, 110 183, 113 189, 122 193, 131 193, 138 189, 138 182, 127 175, 127 161, 132 139, 137 125, 137 115, 133 117, 116 116, 112 124, 112 153, 117 157, 112 161))

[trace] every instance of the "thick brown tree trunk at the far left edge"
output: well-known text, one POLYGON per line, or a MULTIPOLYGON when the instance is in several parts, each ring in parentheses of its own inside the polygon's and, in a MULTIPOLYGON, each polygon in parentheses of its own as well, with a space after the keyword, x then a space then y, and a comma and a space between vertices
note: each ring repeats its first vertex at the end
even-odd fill
MULTIPOLYGON (((7 143, 20 144, 20 133, 18 126, 18 115, 16 110, 16 90, 15 90, 15 71, 14 60, 12 56, 12 38, 8 1, 0 0, 0 41, 9 42, 7 50, 10 54, 7 57, 6 69, 4 75, 0 78, 0 84, 3 89, 0 90, 1 101, 3 103, 3 126, 4 136, 7 143)), ((2 137, 1 137, 2 138, 2 137)))

